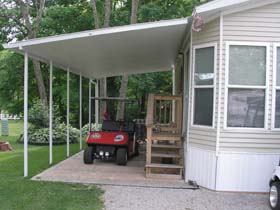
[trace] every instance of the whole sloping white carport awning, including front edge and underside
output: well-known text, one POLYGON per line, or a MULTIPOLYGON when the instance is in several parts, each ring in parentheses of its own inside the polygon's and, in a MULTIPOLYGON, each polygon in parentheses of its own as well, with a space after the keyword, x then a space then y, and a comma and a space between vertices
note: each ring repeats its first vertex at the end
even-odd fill
POLYGON ((89 78, 170 70, 188 18, 112 27, 5 44, 6 49, 89 78))

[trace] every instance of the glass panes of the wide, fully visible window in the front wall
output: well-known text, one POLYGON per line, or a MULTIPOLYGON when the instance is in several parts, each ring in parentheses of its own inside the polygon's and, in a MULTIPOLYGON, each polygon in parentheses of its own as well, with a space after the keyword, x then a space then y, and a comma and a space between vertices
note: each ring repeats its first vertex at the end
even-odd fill
POLYGON ((230 45, 227 127, 264 128, 266 46, 230 45))

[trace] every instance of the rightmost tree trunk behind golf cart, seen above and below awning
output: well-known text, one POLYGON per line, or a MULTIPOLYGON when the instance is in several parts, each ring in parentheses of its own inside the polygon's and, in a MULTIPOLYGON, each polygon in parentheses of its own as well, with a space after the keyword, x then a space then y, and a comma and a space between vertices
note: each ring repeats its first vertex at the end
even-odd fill
MULTIPOLYGON (((138 5, 139 5, 139 0, 132 0, 130 24, 137 23, 138 5)), ((121 98, 126 97, 127 84, 128 84, 128 75, 124 75, 122 77, 122 83, 121 83, 121 88, 120 88, 120 92, 119 92, 119 97, 121 97, 121 98)), ((118 104, 117 117, 116 117, 117 120, 124 119, 124 108, 125 108, 124 106, 125 106, 125 104, 123 102, 120 102, 118 104)))

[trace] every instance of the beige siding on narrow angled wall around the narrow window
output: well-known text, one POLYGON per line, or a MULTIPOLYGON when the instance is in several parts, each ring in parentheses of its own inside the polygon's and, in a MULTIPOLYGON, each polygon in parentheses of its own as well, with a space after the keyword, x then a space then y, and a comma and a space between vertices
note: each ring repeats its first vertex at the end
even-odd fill
MULTIPOLYGON (((217 18, 209 23, 206 23, 203 30, 200 32, 192 31, 192 45, 204 45, 209 43, 218 43, 220 39, 220 18, 217 18)), ((193 58, 191 59, 193 61, 193 58)), ((218 66, 219 66, 219 45, 216 46, 216 69, 215 69, 215 84, 218 82, 218 66)), ((192 65, 193 66, 193 65, 192 65)), ((191 69, 191 78, 193 76, 193 69, 191 69)), ((193 82, 191 81, 191 87, 193 87, 193 82)), ((193 88, 191 88, 193 90, 193 88)), ((190 126, 189 128, 189 144, 190 146, 195 146, 197 148, 203 148, 211 151, 216 150, 216 141, 217 141, 217 131, 216 131, 216 117, 217 117, 217 90, 218 86, 216 85, 214 94, 214 124, 213 128, 200 128, 190 126)), ((193 91, 190 91, 190 105, 193 104, 193 91)), ((193 116, 193 109, 190 109, 189 117, 193 116)))

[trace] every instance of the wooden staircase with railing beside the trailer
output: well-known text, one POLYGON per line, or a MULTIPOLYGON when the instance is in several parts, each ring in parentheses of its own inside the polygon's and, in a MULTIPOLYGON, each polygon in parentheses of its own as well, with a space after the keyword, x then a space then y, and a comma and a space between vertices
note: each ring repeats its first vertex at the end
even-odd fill
POLYGON ((146 177, 182 179, 182 98, 149 95, 146 177))

